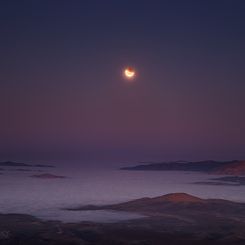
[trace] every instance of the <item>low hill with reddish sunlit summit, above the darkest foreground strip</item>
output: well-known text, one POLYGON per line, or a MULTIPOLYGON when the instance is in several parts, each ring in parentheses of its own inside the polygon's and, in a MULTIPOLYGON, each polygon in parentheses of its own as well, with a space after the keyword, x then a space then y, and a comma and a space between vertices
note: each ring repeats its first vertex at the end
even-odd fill
MULTIPOLYGON (((117 210, 137 212, 148 216, 175 215, 176 217, 193 217, 214 215, 240 217, 245 221, 245 204, 223 199, 202 199, 187 193, 170 193, 158 197, 144 197, 112 205, 87 205, 68 210, 117 210), (224 212, 225 211, 225 212, 224 212)), ((198 217, 197 217, 198 218, 198 217)))

